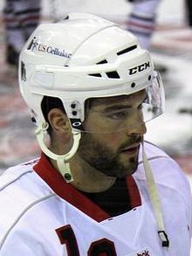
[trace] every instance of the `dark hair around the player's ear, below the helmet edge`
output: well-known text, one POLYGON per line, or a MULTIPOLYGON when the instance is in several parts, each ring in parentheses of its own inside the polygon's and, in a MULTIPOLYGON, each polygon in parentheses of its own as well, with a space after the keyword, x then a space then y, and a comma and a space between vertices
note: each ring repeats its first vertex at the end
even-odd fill
POLYGON ((62 101, 56 97, 50 97, 50 96, 44 96, 43 100, 41 101, 41 109, 45 117, 45 121, 49 123, 49 128, 47 129, 47 132, 49 135, 51 135, 51 125, 48 120, 48 114, 52 108, 59 108, 65 113, 65 108, 62 103, 62 101))

